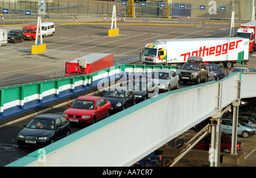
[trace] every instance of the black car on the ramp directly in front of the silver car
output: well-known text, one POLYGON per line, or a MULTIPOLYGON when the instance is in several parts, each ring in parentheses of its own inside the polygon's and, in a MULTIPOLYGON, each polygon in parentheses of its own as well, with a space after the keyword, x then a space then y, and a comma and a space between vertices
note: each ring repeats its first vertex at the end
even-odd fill
POLYGON ((147 100, 147 98, 154 97, 158 94, 158 85, 146 78, 129 82, 128 89, 133 91, 136 103, 147 100))

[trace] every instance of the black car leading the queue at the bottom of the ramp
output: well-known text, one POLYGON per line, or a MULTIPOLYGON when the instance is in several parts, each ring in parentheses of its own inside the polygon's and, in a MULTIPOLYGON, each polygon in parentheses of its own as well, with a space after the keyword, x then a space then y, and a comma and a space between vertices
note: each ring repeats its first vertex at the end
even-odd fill
POLYGON ((67 119, 60 114, 36 115, 17 137, 18 146, 44 147, 71 133, 67 119))

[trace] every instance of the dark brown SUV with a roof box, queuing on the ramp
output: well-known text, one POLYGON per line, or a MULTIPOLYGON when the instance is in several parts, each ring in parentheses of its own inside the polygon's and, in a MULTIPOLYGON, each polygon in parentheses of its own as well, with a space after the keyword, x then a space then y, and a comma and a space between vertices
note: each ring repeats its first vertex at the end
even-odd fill
POLYGON ((180 77, 180 81, 184 83, 196 82, 196 84, 200 84, 201 81, 207 82, 209 79, 208 70, 205 64, 201 62, 203 62, 202 57, 188 57, 188 62, 176 72, 180 77))

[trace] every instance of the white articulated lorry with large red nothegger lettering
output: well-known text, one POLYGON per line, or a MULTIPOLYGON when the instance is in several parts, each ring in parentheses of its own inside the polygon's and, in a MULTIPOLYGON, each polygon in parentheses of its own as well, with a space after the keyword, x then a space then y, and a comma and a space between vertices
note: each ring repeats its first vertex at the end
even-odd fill
POLYGON ((203 57, 204 63, 232 67, 237 63, 238 53, 244 52, 245 63, 249 59, 249 39, 245 38, 195 38, 163 39, 148 43, 143 49, 143 64, 177 65, 187 62, 190 56, 203 57))

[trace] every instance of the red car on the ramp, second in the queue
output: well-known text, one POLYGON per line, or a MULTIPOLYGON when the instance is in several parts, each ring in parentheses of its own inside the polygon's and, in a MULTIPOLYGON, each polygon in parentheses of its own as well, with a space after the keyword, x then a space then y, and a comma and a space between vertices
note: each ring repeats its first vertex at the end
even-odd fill
POLYGON ((63 116, 69 122, 93 124, 100 119, 109 117, 111 104, 102 97, 80 96, 69 108, 64 111, 63 116))

